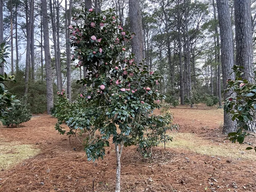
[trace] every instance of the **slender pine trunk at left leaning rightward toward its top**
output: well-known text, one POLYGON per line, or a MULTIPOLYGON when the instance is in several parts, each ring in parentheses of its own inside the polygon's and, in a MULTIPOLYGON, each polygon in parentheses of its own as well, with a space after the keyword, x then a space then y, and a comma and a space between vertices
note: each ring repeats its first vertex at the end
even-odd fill
MULTIPOLYGON (((29 21, 27 22, 27 50, 26 50, 26 66, 25 66, 25 90, 24 95, 26 96, 28 94, 28 78, 29 78, 29 66, 30 66, 30 43, 31 43, 31 26, 32 26, 32 20, 33 20, 33 12, 34 12, 34 0, 30 1, 29 4, 30 7, 30 13, 29 13, 29 21)), ((26 0, 26 14, 28 14, 28 4, 26 0)), ((27 17, 27 15, 26 15, 27 17)), ((25 98, 25 103, 27 102, 27 98, 25 98)))

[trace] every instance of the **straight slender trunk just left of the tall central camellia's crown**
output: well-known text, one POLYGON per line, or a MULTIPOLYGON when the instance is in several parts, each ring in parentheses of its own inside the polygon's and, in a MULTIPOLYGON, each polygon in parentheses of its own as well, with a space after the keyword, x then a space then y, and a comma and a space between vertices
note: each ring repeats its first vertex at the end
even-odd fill
POLYGON ((68 26, 71 23, 71 10, 72 10, 72 0, 69 1, 69 10, 67 11, 68 5, 67 0, 65 0, 65 11, 66 11, 66 55, 67 55, 67 96, 71 101, 71 48, 70 48, 70 29, 68 26))

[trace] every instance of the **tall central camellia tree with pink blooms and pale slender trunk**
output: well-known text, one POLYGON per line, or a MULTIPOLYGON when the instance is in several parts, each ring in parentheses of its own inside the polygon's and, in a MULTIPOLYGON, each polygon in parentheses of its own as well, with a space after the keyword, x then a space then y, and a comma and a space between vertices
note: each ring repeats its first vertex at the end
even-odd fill
POLYGON ((85 67, 88 74, 78 81, 83 84, 84 92, 70 104, 70 110, 63 108, 69 106, 65 92, 59 93, 54 114, 58 116, 62 113, 58 108, 63 108, 66 115, 59 115, 56 129, 64 134, 61 124, 65 122, 70 129, 67 134, 88 133, 84 146, 88 160, 92 161, 103 159, 104 147, 109 146, 111 139, 115 145, 116 192, 119 192, 123 147, 136 145, 140 152, 150 155, 152 146, 172 140, 166 134, 173 126, 172 114, 153 115, 153 110, 160 108, 154 101, 165 98, 154 89, 162 76, 147 71, 147 66, 136 64, 133 55, 127 54, 122 42, 128 42, 135 34, 122 29, 113 10, 96 14, 89 9, 73 20, 76 25, 69 26, 73 30, 72 60, 78 60, 77 67, 85 67), (100 136, 93 136, 96 131, 100 136))

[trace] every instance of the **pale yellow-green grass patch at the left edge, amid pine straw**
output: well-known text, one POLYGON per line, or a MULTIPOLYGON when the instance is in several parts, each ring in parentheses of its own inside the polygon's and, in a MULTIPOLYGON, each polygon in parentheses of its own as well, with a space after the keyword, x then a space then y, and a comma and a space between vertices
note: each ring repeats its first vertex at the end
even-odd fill
POLYGON ((33 145, 19 144, 17 142, 4 142, 0 139, 0 169, 7 169, 24 159, 31 158, 39 153, 33 145))

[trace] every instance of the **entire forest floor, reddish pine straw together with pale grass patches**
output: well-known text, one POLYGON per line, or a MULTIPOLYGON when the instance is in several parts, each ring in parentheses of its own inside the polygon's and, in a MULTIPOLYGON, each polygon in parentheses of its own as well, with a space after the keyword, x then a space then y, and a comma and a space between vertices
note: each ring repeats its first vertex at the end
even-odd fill
MULTIPOLYGON (((256 154, 246 145, 232 144, 222 132, 223 112, 203 105, 199 109, 171 108, 173 142, 153 148, 144 159, 136 147, 121 157, 123 192, 256 191, 256 154)), ((159 113, 159 111, 155 111, 159 113)), ((20 128, 0 127, 1 192, 112 192, 115 188, 114 146, 104 160, 88 162, 71 137, 59 135, 56 119, 33 116, 20 128)))

